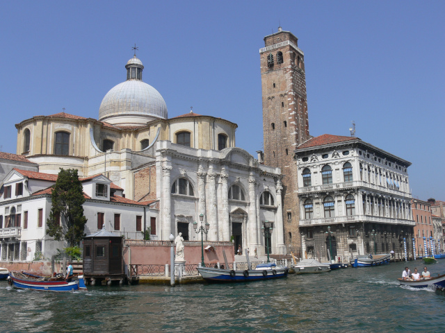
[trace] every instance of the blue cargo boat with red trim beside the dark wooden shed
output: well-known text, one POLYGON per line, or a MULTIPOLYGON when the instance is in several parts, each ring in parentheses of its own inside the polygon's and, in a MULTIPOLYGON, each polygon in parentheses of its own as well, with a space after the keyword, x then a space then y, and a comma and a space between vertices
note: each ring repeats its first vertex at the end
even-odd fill
POLYGON ((86 290, 85 283, 83 282, 83 275, 74 276, 71 282, 66 282, 63 277, 48 278, 24 271, 11 271, 9 273, 8 283, 17 289, 42 291, 86 290))

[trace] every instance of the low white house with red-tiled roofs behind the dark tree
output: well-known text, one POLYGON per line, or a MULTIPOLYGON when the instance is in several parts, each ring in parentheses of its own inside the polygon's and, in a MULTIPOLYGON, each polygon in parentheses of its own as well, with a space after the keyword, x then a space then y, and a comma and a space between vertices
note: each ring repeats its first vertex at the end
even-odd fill
MULTIPOLYGON (((64 241, 47 235, 51 211, 51 186, 57 175, 13 169, 1 182, 0 258, 5 261, 31 261, 51 258, 64 241)), ((158 216, 156 200, 138 203, 122 196, 122 189, 102 175, 81 179, 86 202, 85 233, 102 229, 131 239, 143 239, 150 219, 158 216)), ((64 221, 60 221, 64 225, 64 221)))

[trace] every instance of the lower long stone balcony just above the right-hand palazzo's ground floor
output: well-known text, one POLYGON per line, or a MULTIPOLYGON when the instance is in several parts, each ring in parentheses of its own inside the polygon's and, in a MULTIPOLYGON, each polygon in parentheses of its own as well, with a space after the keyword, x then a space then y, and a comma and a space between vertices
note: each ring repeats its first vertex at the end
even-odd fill
POLYGON ((299 225, 302 227, 308 225, 327 225, 327 224, 338 224, 338 223, 355 223, 355 222, 371 222, 371 223, 385 223, 392 225, 416 225, 412 220, 404 219, 392 219, 389 217, 382 216, 372 216, 372 215, 353 215, 353 216, 337 216, 325 219, 310 219, 310 220, 300 220, 299 225))

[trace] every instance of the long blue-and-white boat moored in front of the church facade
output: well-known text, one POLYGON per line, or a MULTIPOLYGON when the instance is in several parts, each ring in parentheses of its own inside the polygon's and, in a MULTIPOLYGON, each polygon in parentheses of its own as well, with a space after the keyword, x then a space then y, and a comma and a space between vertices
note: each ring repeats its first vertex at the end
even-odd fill
POLYGON ((258 280, 270 280, 284 278, 289 273, 289 268, 276 264, 259 264, 255 269, 234 271, 233 269, 198 267, 202 278, 212 282, 248 282, 258 280))

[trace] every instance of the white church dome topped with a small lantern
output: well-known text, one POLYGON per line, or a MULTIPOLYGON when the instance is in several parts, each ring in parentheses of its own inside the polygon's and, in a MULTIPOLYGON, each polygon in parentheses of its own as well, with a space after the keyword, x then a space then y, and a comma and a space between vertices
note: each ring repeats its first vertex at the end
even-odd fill
POLYGON ((134 56, 128 60, 127 81, 113 87, 99 108, 99 120, 120 125, 145 124, 168 117, 167 105, 161 94, 142 81, 142 62, 134 56))

